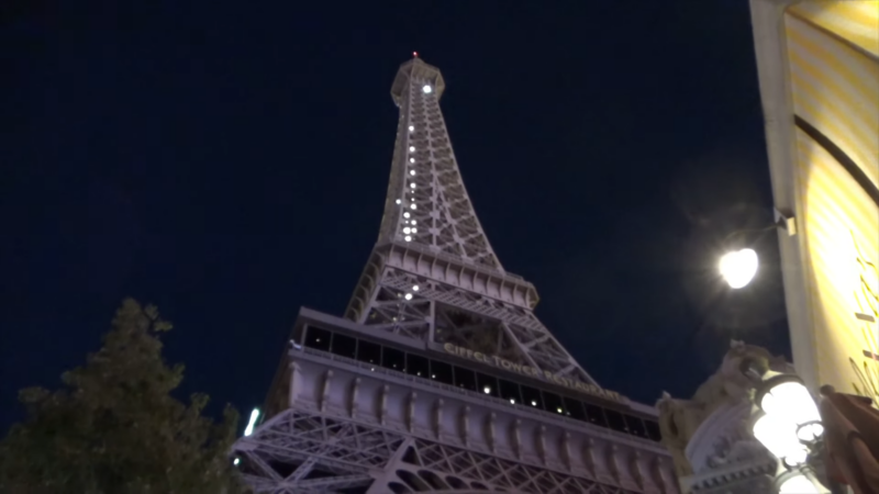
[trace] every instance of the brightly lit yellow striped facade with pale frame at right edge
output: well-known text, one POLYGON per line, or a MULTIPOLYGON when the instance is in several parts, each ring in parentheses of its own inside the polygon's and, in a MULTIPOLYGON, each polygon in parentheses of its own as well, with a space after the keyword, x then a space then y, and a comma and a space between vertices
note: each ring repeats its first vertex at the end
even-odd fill
POLYGON ((879 1, 752 0, 793 364, 879 390, 879 1))

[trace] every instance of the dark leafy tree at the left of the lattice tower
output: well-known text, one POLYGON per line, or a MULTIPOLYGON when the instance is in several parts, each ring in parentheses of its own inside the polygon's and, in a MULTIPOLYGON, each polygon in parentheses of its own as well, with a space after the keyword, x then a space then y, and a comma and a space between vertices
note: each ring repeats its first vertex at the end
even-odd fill
POLYGON ((226 405, 215 423, 202 416, 207 395, 189 405, 170 395, 183 377, 162 358, 158 336, 170 328, 155 306, 127 299, 62 390, 21 391, 27 418, 0 442, 0 492, 240 492, 227 457, 238 414, 226 405))

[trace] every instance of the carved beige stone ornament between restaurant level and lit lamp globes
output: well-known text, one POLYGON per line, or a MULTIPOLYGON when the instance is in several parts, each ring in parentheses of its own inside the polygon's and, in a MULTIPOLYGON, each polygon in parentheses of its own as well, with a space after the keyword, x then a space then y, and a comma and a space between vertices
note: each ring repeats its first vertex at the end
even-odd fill
MULTIPOLYGON (((755 379, 759 379, 769 369, 792 371, 783 357, 774 357, 764 348, 732 340, 730 351, 724 356, 717 372, 699 386, 692 398, 676 400, 668 393, 663 393, 656 404, 659 409, 659 431, 663 435, 663 445, 671 453, 679 478, 692 474, 692 465, 687 460, 685 450, 699 426, 724 404, 733 405, 750 400, 755 379)), ((728 445, 730 450, 736 446, 728 445)), ((750 446, 743 445, 738 448, 750 446)), ((723 457, 728 459, 728 454, 723 457)))

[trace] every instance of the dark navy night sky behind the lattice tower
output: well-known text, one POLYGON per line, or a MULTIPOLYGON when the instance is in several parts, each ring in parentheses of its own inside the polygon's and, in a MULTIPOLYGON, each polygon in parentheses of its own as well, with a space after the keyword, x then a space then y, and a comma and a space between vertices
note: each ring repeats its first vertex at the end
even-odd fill
POLYGON ((129 295, 175 323, 181 395, 262 404, 376 242, 413 50, 494 251, 600 384, 653 404, 730 338, 790 353, 775 233, 727 238, 772 220, 744 0, 69 3, 0 24, 0 434, 129 295), (728 243, 761 256, 736 292, 728 243))

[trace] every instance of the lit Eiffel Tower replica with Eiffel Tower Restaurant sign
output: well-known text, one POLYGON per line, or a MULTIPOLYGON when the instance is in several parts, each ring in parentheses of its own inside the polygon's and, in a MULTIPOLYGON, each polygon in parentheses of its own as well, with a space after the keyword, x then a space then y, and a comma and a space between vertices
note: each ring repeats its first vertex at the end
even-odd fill
POLYGON ((678 493, 657 412, 604 390, 534 316, 461 181, 416 55, 379 238, 344 317, 301 308, 264 419, 232 454, 259 493, 678 493))

